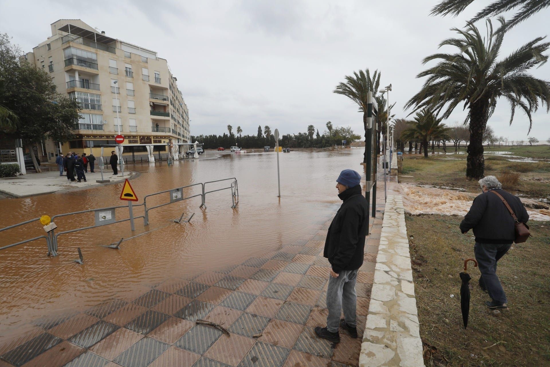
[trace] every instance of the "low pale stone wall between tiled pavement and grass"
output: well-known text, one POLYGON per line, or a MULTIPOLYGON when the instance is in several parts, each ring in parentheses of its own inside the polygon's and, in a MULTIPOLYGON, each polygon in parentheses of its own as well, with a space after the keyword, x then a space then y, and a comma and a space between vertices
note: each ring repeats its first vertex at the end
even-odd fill
POLYGON ((386 200, 359 365, 424 366, 401 195, 386 200))

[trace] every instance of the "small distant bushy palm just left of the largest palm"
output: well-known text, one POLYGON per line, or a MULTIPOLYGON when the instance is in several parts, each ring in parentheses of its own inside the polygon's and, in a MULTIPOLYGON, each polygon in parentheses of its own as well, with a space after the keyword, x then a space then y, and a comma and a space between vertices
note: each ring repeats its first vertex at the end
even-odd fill
POLYGON ((428 157, 428 141, 441 140, 449 135, 450 128, 441 123, 433 112, 427 109, 417 112, 409 127, 404 129, 399 138, 401 140, 420 141, 424 147, 424 157, 428 157))

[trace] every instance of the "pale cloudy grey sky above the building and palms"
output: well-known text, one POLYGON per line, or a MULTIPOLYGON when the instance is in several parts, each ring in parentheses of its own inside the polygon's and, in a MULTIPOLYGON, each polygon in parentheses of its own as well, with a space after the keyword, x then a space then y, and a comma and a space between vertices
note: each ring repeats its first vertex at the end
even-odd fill
MULTIPOLYGON (((313 124, 350 125, 362 131, 362 117, 335 85, 354 70, 382 72, 392 83, 397 118, 422 85, 415 76, 423 57, 437 52, 449 29, 461 27, 487 0, 476 0, 457 18, 430 17, 438 0, 324 1, 213 0, 67 2, 0 0, 0 32, 24 51, 51 34, 57 19, 82 19, 108 36, 150 48, 166 58, 189 106, 191 133, 222 134, 227 124, 244 134, 269 125, 281 134, 305 132, 313 124), (34 4, 33 4, 34 3, 34 4)), ((502 56, 548 33, 550 9, 507 34, 502 56)), ((483 26, 482 24, 480 24, 483 26)), ((550 79, 550 63, 533 70, 550 79)), ((464 119, 456 109, 447 121, 464 119)), ((530 136, 550 138, 546 108, 533 115, 530 136)), ((489 124, 498 135, 527 139, 529 120, 499 101, 489 124)))

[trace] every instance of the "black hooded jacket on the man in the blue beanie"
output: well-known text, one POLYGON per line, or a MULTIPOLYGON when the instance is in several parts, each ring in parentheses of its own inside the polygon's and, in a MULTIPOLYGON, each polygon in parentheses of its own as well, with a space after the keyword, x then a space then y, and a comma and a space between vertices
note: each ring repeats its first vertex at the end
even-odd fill
POLYGON ((335 273, 356 270, 363 264, 368 229, 368 205, 361 194, 361 185, 343 191, 338 197, 344 202, 328 227, 323 252, 335 273))

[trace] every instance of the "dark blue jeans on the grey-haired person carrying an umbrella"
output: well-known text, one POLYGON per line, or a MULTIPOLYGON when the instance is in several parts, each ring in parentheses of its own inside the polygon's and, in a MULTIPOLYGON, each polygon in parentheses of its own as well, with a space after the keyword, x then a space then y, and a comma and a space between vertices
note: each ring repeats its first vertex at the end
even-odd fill
POLYGON ((511 244, 478 243, 474 245, 477 266, 480 269, 480 287, 487 289, 489 296, 499 302, 507 303, 506 294, 497 276, 497 261, 510 249, 511 244))

